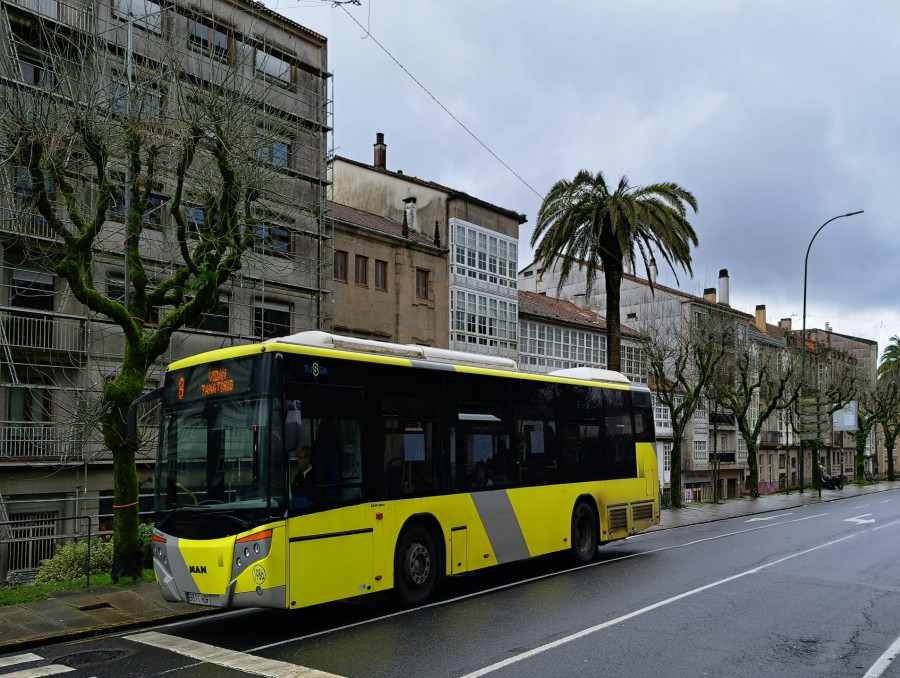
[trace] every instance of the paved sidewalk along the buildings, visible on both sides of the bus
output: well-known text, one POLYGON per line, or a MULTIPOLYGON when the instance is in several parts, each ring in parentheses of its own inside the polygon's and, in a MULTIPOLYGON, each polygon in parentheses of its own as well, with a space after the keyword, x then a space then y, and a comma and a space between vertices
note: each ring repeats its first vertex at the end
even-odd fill
MULTIPOLYGON (((729 499, 721 504, 688 504, 685 508, 664 510, 660 524, 649 531, 858 498, 898 487, 900 481, 882 481, 864 487, 847 485, 839 491, 823 490, 821 499, 818 493, 807 490, 803 494, 794 492, 759 499, 729 499)), ((37 603, 0 607, 0 654, 215 612, 212 608, 166 602, 156 583, 60 591, 52 598, 37 603)))

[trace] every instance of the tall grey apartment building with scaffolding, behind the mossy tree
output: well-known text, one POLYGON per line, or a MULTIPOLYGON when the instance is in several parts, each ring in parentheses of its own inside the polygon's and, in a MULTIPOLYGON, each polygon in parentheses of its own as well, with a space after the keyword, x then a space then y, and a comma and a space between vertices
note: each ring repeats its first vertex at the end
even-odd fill
MULTIPOLYGON (((255 242, 219 305, 173 335, 148 388, 159 385, 172 360, 329 326, 327 66, 323 36, 256 2, 0 0, 0 103, 7 112, 37 115, 52 103, 115 123, 139 105, 156 116, 158 129, 148 129, 160 136, 187 114, 191 96, 218 97, 223 119, 237 107, 245 112, 234 138, 246 144, 250 171, 266 178, 252 201, 255 242)), ((112 181, 127 185, 126 163, 111 167, 112 181)), ((95 178, 85 171, 70 180, 89 211, 98 199, 95 178)), ((47 190, 69 223, 59 187, 47 190)), ((177 265, 179 247, 172 177, 160 174, 148 190, 139 252, 152 288, 177 265)), ((183 188, 191 242, 218 221, 206 190, 202 172, 183 188)), ((56 275, 60 243, 33 194, 23 167, 0 166, 0 521, 25 521, 6 535, 17 543, 0 549, 0 576, 37 567, 55 535, 105 527, 103 518, 90 526, 61 518, 112 515, 112 460, 99 436, 98 397, 125 342, 119 326, 88 311, 56 275)), ((90 268, 97 290, 120 301, 130 294, 125 194, 106 215, 90 268)), ((139 320, 152 326, 158 316, 139 320)), ((152 510, 153 442, 138 458, 142 511, 152 510)))

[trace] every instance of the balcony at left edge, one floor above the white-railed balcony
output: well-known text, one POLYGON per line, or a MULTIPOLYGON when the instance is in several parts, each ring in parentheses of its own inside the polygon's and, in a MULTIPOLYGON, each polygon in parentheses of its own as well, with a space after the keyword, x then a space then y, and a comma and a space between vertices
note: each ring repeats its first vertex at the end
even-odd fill
POLYGON ((0 306, 0 342, 9 347, 15 362, 81 360, 85 323, 82 316, 0 306))

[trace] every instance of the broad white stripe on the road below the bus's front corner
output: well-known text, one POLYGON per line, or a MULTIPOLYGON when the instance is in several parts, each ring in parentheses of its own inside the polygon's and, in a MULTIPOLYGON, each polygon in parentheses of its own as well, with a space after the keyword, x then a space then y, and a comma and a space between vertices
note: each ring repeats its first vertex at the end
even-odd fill
POLYGON ((156 631, 147 631, 146 633, 137 633, 133 636, 125 636, 125 639, 133 640, 136 643, 143 643, 144 645, 159 647, 185 657, 190 657, 191 659, 199 659, 208 664, 224 666, 229 669, 243 671, 244 673, 252 673, 257 676, 270 676, 271 678, 340 678, 340 676, 335 676, 333 673, 317 671, 316 669, 310 669, 289 662, 281 662, 276 659, 257 657, 245 652, 237 652, 223 647, 216 647, 215 645, 198 643, 195 640, 170 636, 164 633, 157 633, 156 631))

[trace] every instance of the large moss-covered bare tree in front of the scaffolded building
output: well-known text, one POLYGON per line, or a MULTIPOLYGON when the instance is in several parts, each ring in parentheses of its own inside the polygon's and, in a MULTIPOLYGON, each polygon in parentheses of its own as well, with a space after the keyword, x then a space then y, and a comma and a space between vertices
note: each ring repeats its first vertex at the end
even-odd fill
POLYGON ((46 265, 124 342, 100 407, 114 462, 117 579, 141 568, 129 405, 173 333, 215 307, 253 246, 254 209, 272 178, 259 152, 272 142, 240 55, 228 63, 194 55, 205 59, 199 78, 165 39, 147 42, 123 64, 101 35, 61 34, 44 23, 33 30, 47 73, 43 82, 19 78, 0 90, 0 154, 22 168, 54 237, 46 265), (174 233, 155 228, 148 238, 163 193, 171 195, 165 207, 174 233), (99 285, 98 253, 123 249, 124 290, 99 285))

